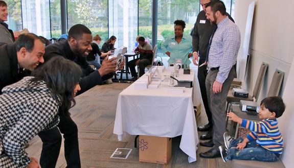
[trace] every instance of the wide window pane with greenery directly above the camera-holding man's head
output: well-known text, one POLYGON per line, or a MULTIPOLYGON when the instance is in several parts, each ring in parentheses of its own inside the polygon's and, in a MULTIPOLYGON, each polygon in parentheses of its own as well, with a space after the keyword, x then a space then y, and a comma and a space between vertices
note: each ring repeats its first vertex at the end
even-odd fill
POLYGON ((107 0, 67 0, 68 29, 76 24, 88 27, 92 35, 98 34, 104 41, 108 39, 108 1, 107 0))

